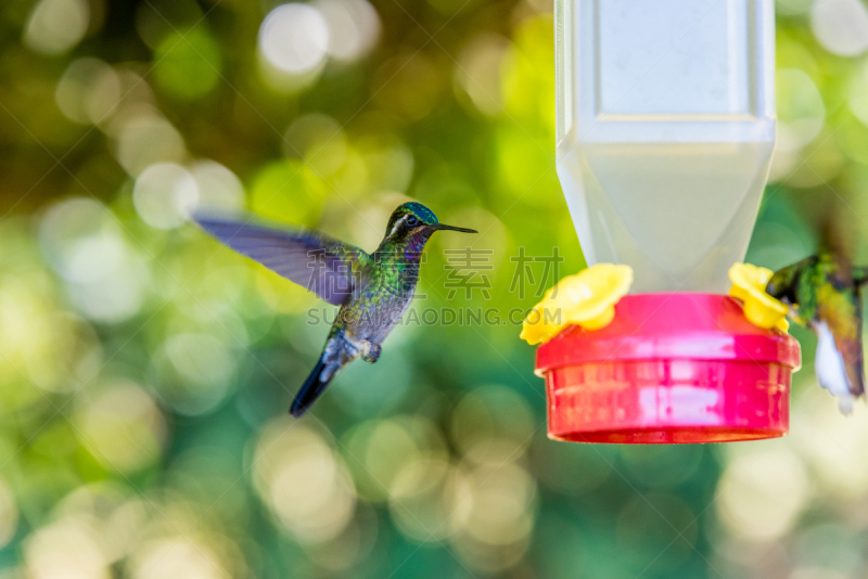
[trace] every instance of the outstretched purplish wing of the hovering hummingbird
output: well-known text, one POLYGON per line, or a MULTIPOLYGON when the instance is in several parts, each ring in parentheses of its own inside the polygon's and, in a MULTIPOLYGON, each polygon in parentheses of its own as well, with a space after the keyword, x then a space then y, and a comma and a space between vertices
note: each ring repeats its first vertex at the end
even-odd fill
POLYGON ((306 229, 276 229, 250 219, 194 215, 202 229, 235 252, 340 306, 353 293, 368 254, 306 229))

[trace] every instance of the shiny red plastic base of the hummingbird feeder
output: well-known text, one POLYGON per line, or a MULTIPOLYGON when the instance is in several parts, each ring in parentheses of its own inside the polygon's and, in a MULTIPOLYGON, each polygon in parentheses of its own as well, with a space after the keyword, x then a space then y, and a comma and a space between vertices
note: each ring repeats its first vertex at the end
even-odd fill
POLYGON ((783 436, 799 343, 750 323, 716 294, 624 297, 602 330, 564 330, 537 349, 549 438, 726 442, 783 436))

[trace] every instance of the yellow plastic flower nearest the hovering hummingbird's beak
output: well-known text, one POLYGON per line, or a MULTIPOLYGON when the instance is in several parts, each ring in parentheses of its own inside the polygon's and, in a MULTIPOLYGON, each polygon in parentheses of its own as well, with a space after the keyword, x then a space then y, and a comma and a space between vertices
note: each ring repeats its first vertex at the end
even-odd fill
POLYGON ((570 324, 599 330, 612 322, 615 304, 633 283, 633 268, 597 263, 567 275, 546 292, 542 301, 524 319, 521 338, 527 344, 546 343, 570 324))

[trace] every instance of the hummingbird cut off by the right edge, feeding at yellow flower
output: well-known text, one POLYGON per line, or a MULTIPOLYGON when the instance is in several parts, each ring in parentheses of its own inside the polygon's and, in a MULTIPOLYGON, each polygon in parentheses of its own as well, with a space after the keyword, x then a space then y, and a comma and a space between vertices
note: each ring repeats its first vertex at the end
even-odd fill
POLYGON ((838 398, 844 414, 865 394, 859 291, 866 281, 868 268, 853 267, 841 253, 821 249, 775 272, 766 286, 769 295, 794 306, 790 318, 817 334, 817 382, 838 398))

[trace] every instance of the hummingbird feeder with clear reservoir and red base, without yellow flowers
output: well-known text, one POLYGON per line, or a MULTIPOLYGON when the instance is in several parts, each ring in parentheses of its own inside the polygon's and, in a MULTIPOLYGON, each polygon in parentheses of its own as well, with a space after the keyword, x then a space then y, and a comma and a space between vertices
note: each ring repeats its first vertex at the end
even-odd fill
POLYGON ((588 263, 634 278, 607 325, 538 348, 551 438, 787 434, 799 344, 726 294, 775 144, 774 35, 773 0, 556 0, 558 175, 588 263))

